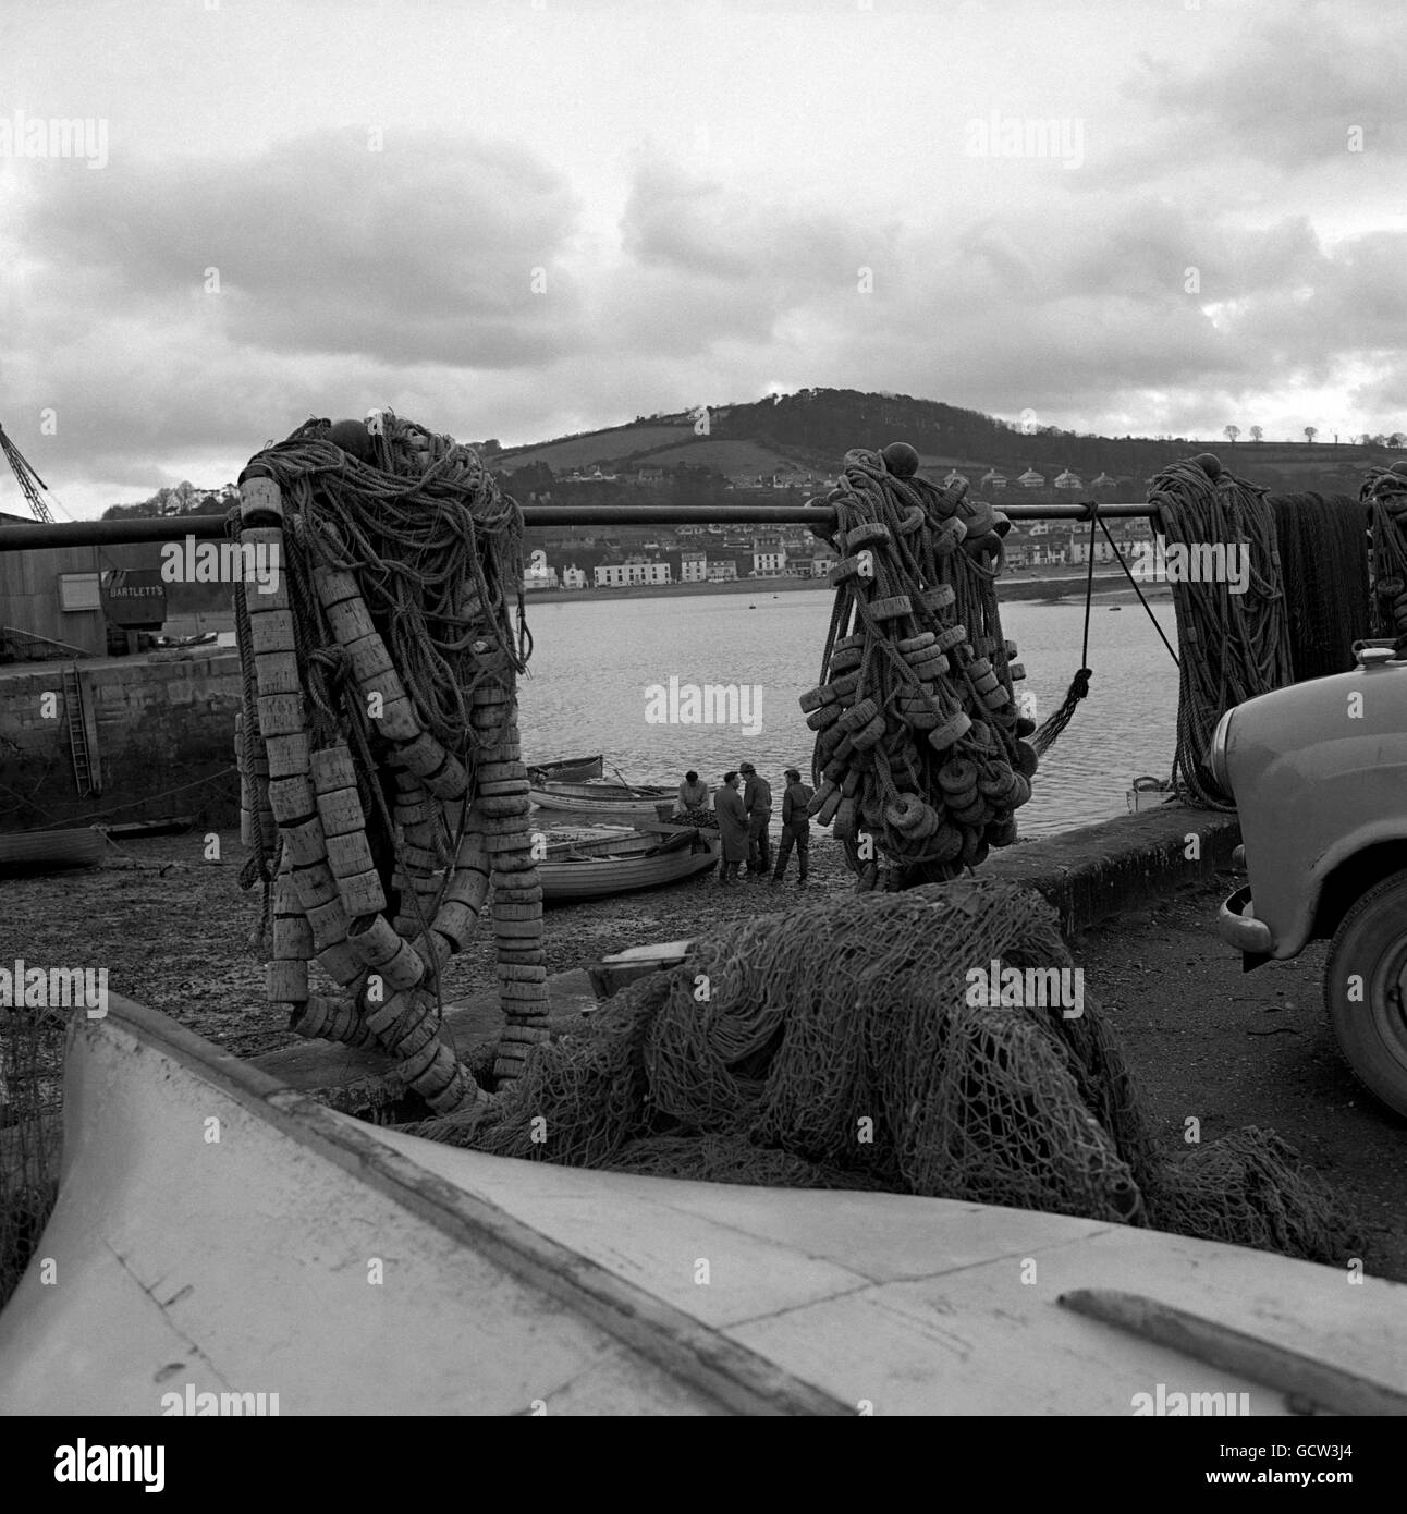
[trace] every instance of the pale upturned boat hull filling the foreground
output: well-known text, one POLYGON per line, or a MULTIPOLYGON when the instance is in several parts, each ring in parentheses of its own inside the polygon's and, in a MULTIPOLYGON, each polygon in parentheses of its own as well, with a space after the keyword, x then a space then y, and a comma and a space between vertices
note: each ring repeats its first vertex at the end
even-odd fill
POLYGON ((1284 1416, 1401 1413, 1407 1390, 1407 1288, 1378 1278, 1065 1214, 463 1151, 118 995, 73 1022, 64 1122, 59 1199, 0 1314, 0 1416, 254 1414, 260 1393, 280 1416, 1284 1416), (1112 1328, 1130 1294, 1145 1328, 1127 1308, 1112 1328), (1169 1334, 1177 1311, 1198 1328, 1169 1334), (1222 1407, 1166 1407, 1187 1394, 1222 1407))

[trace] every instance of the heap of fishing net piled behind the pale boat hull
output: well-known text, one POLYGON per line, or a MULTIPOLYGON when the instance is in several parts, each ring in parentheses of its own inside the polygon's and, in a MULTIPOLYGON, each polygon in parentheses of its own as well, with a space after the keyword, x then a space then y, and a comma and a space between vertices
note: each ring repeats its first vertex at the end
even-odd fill
POLYGON ((881 1188, 1354 1254, 1331 1195, 1275 1136, 1160 1157, 1080 987, 1031 890, 969 880, 847 896, 697 942, 535 1048, 492 1108, 412 1129, 576 1167, 881 1188))

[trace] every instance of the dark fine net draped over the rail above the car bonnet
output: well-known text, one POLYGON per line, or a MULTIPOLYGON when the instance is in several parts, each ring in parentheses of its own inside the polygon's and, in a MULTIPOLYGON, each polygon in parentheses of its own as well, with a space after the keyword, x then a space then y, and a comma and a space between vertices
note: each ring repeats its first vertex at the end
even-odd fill
MULTIPOLYGON (((1407 480, 1401 480, 1407 488, 1407 480)), ((1369 636, 1366 510, 1346 495, 1272 494, 1295 683, 1348 672, 1369 636)))

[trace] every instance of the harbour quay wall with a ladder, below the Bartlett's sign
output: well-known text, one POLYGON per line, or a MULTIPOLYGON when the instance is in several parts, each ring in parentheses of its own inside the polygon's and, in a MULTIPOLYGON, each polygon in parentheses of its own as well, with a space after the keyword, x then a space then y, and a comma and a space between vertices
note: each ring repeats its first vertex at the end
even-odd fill
POLYGON ((85 816, 239 819, 233 771, 239 659, 207 648, 79 662, 88 742, 101 793, 79 799, 64 713, 64 663, 0 671, 0 830, 85 816), (58 695, 56 718, 41 695, 58 695), (224 777, 217 777, 224 774, 224 777), (185 787, 191 786, 191 787, 185 787), (180 793, 165 790, 180 787, 180 793))

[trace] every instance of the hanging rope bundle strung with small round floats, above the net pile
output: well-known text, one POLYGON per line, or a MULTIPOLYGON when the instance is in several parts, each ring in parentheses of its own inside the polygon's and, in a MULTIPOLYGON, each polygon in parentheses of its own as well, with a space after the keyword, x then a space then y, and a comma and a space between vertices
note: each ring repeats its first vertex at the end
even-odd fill
POLYGON ((903 444, 847 453, 836 527, 813 528, 841 562, 821 683, 801 696, 810 813, 835 824, 862 890, 951 878, 1015 842, 1036 771, 997 609, 1009 522, 916 466, 903 444))

